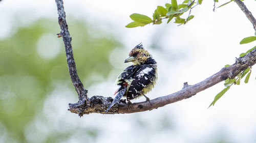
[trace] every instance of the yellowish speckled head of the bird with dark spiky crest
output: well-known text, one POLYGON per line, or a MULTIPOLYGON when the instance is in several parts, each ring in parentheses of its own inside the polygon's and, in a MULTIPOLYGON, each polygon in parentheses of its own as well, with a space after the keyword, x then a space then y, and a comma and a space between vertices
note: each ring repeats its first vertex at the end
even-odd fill
POLYGON ((133 65, 140 65, 150 57, 151 54, 145 50, 140 43, 130 51, 129 56, 125 59, 124 63, 133 62, 133 65))

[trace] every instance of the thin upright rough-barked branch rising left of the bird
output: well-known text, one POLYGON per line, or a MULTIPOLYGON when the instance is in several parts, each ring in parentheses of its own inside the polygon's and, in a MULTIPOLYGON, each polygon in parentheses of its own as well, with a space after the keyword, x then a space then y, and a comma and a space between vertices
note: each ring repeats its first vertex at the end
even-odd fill
MULTIPOLYGON (((86 107, 86 101, 87 101, 87 90, 84 90, 83 84, 80 81, 77 70, 76 70, 76 64, 73 56, 73 50, 71 45, 72 38, 70 37, 69 31, 68 31, 68 24, 66 22, 66 13, 64 11, 63 7, 63 1, 62 0, 55 0, 55 3, 57 5, 57 11, 58 11, 58 22, 60 26, 60 34, 57 34, 58 37, 63 38, 63 42, 65 44, 66 49, 66 56, 67 56, 67 63, 69 68, 69 74, 71 77, 71 80, 73 82, 73 85, 75 87, 75 90, 78 94, 79 103, 83 104, 81 107, 86 107)), ((79 109, 80 112, 83 112, 82 108, 79 109)))

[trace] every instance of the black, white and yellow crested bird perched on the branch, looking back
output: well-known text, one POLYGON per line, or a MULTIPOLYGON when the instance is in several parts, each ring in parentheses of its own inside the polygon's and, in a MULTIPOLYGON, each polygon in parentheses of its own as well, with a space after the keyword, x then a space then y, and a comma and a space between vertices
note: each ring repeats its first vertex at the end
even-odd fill
POLYGON ((140 43, 135 46, 125 59, 124 63, 132 62, 133 65, 127 67, 116 79, 116 84, 120 88, 116 91, 113 102, 107 112, 115 103, 122 97, 126 97, 128 104, 131 104, 132 99, 144 96, 146 101, 150 99, 145 94, 154 88, 157 81, 157 62, 152 58, 152 55, 143 48, 140 43))

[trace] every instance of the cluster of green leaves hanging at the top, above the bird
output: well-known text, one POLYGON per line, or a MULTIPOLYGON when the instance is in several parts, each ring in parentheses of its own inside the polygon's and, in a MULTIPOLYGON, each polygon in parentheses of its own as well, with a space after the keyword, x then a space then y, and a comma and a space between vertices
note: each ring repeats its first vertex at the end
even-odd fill
MULTIPOLYGON (((198 0, 197 4, 201 5, 203 0, 198 0)), ((185 24, 187 21, 194 18, 194 15, 188 14, 187 18, 181 18, 188 10, 191 10, 191 7, 195 4, 195 1, 185 0, 182 4, 177 4, 176 0, 172 0, 172 4, 165 4, 165 7, 157 6, 157 9, 154 11, 152 18, 134 13, 130 15, 133 22, 127 24, 125 27, 132 28, 137 26, 144 26, 146 24, 161 24, 162 19, 168 19, 167 23, 169 23, 172 19, 175 19, 174 23, 178 23, 179 25, 185 24)))

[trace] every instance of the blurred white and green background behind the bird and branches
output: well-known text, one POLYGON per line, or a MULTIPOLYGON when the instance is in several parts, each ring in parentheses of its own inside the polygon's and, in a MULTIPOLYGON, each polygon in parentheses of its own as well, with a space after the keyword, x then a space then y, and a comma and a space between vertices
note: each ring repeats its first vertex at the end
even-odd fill
MULTIPOLYGON (((256 16, 255 1, 244 2, 256 16)), ((113 97, 116 77, 131 64, 123 61, 140 42, 158 62, 151 99, 209 77, 255 46, 239 45, 254 30, 235 3, 213 12, 214 2, 203 1, 181 26, 124 27, 130 14, 152 16, 165 3, 171 2, 64 1, 78 75, 90 97, 113 97)), ((69 112, 78 98, 56 37, 57 16, 55 1, 0 2, 0 142, 256 142, 254 67, 248 84, 233 85, 210 108, 223 83, 151 111, 82 118, 69 112)))

